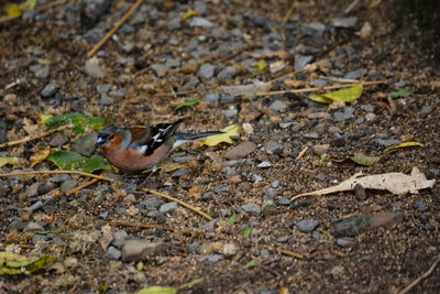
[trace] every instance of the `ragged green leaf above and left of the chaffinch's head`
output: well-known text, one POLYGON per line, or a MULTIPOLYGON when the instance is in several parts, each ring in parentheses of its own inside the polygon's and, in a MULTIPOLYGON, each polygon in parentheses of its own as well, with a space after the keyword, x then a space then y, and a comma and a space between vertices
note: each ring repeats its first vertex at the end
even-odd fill
POLYGON ((103 119, 87 117, 78 112, 69 112, 54 117, 42 115, 40 117, 41 122, 47 126, 50 129, 69 123, 76 127, 74 130, 78 133, 84 133, 86 128, 91 130, 100 130, 103 128, 103 119))

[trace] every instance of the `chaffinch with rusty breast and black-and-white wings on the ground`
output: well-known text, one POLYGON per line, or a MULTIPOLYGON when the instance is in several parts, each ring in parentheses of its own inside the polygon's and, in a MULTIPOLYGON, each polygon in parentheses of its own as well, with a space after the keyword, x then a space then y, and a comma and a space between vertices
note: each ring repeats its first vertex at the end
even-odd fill
POLYGON ((109 127, 98 133, 96 146, 101 148, 106 159, 120 170, 142 172, 153 168, 155 172, 161 161, 173 149, 193 140, 222 133, 176 133, 184 120, 127 130, 109 127))

